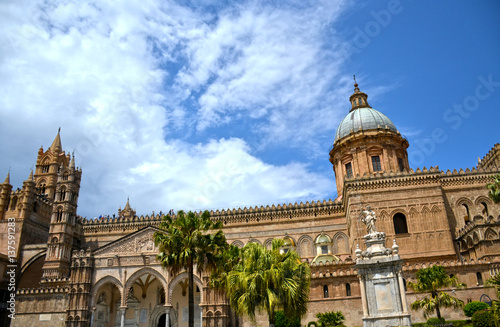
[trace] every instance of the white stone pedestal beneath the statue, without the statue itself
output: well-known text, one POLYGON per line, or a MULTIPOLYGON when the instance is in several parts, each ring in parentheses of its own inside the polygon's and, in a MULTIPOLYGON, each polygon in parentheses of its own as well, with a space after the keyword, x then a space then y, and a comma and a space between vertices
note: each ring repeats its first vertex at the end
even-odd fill
POLYGON ((356 249, 356 269, 363 303, 363 327, 411 326, 402 264, 394 241, 385 247, 385 233, 365 235, 366 251, 356 249))

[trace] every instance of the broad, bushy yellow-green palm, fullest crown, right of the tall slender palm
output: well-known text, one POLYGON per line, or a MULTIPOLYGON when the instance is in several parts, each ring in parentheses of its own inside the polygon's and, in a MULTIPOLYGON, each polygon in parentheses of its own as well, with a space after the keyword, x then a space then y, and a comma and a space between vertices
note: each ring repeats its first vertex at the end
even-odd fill
POLYGON ((310 269, 295 251, 280 251, 283 240, 273 240, 271 249, 248 243, 240 261, 226 275, 224 286, 233 310, 255 321, 255 310, 264 309, 269 326, 275 323, 275 312, 302 317, 309 300, 310 269))

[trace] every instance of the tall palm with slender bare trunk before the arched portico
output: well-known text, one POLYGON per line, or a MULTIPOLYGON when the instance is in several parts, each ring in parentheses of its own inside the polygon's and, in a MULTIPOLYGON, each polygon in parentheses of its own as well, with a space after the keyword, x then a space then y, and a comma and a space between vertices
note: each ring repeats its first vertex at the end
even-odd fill
POLYGON ((159 245, 156 259, 164 268, 176 274, 188 271, 189 327, 194 326, 194 266, 198 272, 213 270, 227 249, 222 224, 210 220, 208 211, 201 215, 189 211, 178 211, 176 217, 164 216, 160 230, 154 234, 155 245, 159 245), (214 231, 216 230, 216 231, 214 231))

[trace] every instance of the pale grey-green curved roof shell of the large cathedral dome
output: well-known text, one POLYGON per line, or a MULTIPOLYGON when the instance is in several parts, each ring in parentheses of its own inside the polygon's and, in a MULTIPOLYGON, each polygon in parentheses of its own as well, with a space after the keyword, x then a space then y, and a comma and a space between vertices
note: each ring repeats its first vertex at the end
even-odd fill
POLYGON ((380 111, 373 108, 357 108, 349 112, 340 122, 335 133, 335 142, 351 134, 351 132, 355 133, 386 127, 393 132, 398 131, 393 122, 380 111))

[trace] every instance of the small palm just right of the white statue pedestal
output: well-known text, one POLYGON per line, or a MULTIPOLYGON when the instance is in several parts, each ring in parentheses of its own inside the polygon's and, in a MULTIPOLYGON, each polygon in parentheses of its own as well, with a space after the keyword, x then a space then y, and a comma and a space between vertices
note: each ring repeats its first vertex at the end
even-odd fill
POLYGON ((415 292, 430 293, 431 296, 413 302, 411 308, 413 310, 422 309, 425 318, 436 312, 437 317, 441 319, 441 308, 462 308, 464 306, 462 300, 440 291, 440 289, 448 286, 465 287, 465 284, 458 283, 456 276, 450 277, 446 275, 443 266, 420 269, 417 271, 416 277, 417 282, 408 282, 408 286, 415 292))

